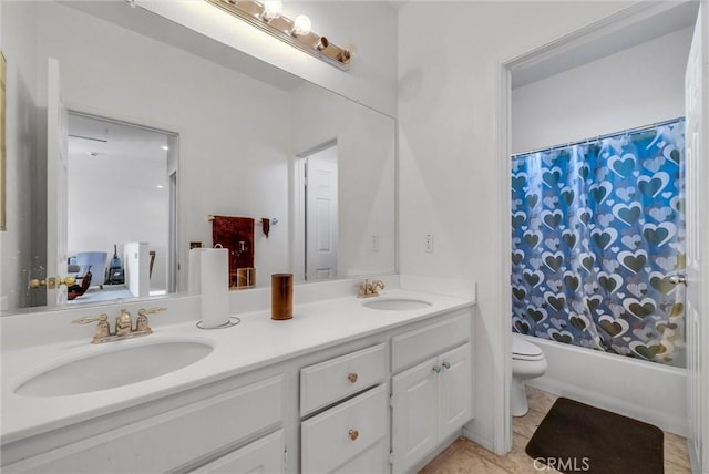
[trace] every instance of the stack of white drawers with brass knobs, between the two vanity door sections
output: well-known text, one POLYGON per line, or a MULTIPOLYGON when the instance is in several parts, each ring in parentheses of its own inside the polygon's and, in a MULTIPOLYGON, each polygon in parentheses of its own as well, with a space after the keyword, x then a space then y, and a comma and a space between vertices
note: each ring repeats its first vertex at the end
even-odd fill
POLYGON ((301 369, 301 415, 315 413, 300 423, 304 473, 389 470, 386 365, 378 344, 301 369))

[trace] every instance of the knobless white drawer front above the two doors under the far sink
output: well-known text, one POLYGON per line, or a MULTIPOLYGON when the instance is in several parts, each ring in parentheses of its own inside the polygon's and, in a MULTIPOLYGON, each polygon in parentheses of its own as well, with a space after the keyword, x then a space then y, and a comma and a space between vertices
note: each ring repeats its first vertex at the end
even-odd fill
POLYGON ((461 310, 456 315, 445 321, 424 326, 392 338, 392 373, 466 342, 471 337, 470 309, 461 310))

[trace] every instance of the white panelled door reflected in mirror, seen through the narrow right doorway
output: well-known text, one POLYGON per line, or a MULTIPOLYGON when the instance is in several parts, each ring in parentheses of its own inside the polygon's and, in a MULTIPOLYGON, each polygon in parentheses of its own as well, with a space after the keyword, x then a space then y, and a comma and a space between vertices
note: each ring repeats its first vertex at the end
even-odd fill
POLYGON ((337 277, 338 169, 337 146, 306 161, 306 279, 337 277))

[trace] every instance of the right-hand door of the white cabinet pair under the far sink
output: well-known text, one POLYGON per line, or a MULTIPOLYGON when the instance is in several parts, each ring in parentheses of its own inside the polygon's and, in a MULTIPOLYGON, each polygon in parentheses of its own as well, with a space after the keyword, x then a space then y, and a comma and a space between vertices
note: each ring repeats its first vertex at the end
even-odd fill
POLYGON ((440 382, 439 439, 460 430, 472 416, 473 372, 470 343, 458 347, 439 357, 442 368, 440 382))

